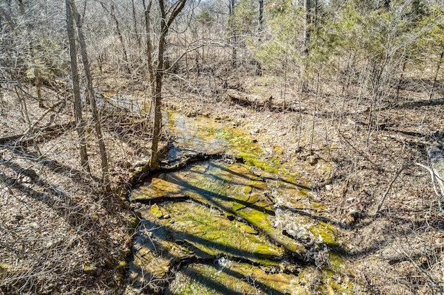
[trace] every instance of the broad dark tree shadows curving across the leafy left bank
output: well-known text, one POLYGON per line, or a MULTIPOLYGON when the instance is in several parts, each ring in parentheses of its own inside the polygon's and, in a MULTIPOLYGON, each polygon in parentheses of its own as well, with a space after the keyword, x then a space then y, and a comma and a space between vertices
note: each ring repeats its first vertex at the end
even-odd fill
MULTIPOLYGON (((80 243, 85 244, 86 253, 81 253, 80 259, 84 259, 84 263, 87 265, 95 265, 97 267, 102 267, 102 263, 104 259, 110 258, 110 248, 113 247, 114 239, 110 235, 109 231, 104 230, 103 222, 100 222, 100 218, 96 216, 95 212, 90 211, 89 206, 85 204, 83 200, 83 196, 80 195, 82 193, 92 195, 93 199, 99 199, 103 193, 94 192, 94 187, 99 188, 100 183, 99 179, 96 177, 86 177, 85 173, 77 170, 76 168, 71 168, 66 166, 65 164, 59 163, 56 160, 49 159, 47 157, 42 157, 37 155, 35 152, 31 152, 24 147, 12 149, 12 152, 17 155, 18 158, 25 159, 26 166, 31 165, 33 169, 39 169, 38 167, 46 167, 49 168, 55 175, 62 176, 62 179, 66 179, 69 177, 73 181, 73 183, 77 183, 80 188, 87 188, 85 191, 82 189, 77 190, 74 195, 69 188, 64 188, 64 184, 60 184, 60 186, 55 182, 57 181, 57 177, 51 177, 51 179, 44 179, 37 175, 35 170, 26 169, 21 164, 18 164, 13 159, 2 161, 0 163, 4 169, 8 169, 8 175, 3 172, 0 173, 0 179, 4 181, 8 188, 12 190, 14 193, 20 193, 24 195, 24 199, 20 202, 25 202, 26 199, 33 199, 34 201, 40 202, 44 204, 40 208, 37 206, 36 208, 30 208, 29 210, 33 213, 39 213, 39 210, 51 210, 56 215, 58 215, 62 220, 67 222, 68 229, 71 231, 67 231, 67 236, 71 237, 74 240, 69 240, 69 245, 71 245, 74 241, 74 244, 80 243), (24 177, 29 177, 28 181, 24 181, 24 177), (96 182, 96 184, 94 184, 96 182), (96 197, 94 197, 96 195, 96 197), (76 238, 74 238, 76 237, 76 238)), ((25 165, 25 164, 24 164, 25 165)), ((104 209, 105 215, 115 215, 115 208, 117 202, 108 200, 109 202, 103 202, 103 206, 100 205, 101 209, 104 209)), ((93 201, 94 202, 94 201, 93 201)), ((35 204, 35 203, 32 203, 35 204)), ((97 203, 99 204, 99 203, 97 203)), ((34 206, 34 205, 33 205, 34 206)), ((51 221, 47 220, 48 224, 51 221)), ((62 235, 62 237, 65 237, 62 235)), ((65 237, 66 238, 66 237, 65 237)), ((69 238, 69 239, 71 239, 69 238)), ((62 244, 65 243, 65 240, 61 240, 62 244)), ((13 244, 17 244, 17 241, 10 241, 13 244)), ((47 242, 51 242, 48 240, 47 242)), ((68 240, 66 240, 68 242, 68 240)), ((25 242, 26 243, 26 242, 25 242)), ((1 245, 3 247, 3 244, 1 245)), ((37 245, 37 247, 40 247, 37 245)), ((45 245, 42 245, 42 249, 36 249, 40 251, 42 255, 46 255, 46 251, 48 251, 47 257, 42 258, 42 261, 51 260, 51 249, 45 249, 45 245)), ((65 249, 66 251, 71 251, 69 249, 65 249)), ((26 253, 17 253, 17 255, 24 255, 24 260, 28 260, 31 256, 28 256, 26 253)), ((114 255, 120 255, 119 253, 114 253, 114 255)), ((80 257, 80 256, 79 256, 80 257)), ((65 258, 62 258, 65 259, 65 258)), ((66 258, 67 263, 69 263, 69 257, 66 258)), ((76 260, 76 258, 72 258, 76 260)), ((61 265, 59 267, 62 267, 61 265)), ((55 272, 50 272, 48 276, 57 277, 62 276, 66 269, 58 269, 56 267, 54 269, 55 272)), ((85 275, 83 278, 85 282, 89 282, 86 284, 94 285, 94 276, 89 276, 84 272, 83 265, 78 264, 75 269, 71 269, 70 272, 76 272, 76 276, 85 275)), ((107 276, 105 272, 102 271, 101 276, 107 276)), ((44 280, 42 280, 44 283, 44 280)), ((24 282, 26 283, 26 282, 24 282)), ((59 286, 60 287, 60 286, 59 286)), ((87 287, 85 285, 84 287, 87 287)), ((35 286, 34 286, 35 288, 35 286)))

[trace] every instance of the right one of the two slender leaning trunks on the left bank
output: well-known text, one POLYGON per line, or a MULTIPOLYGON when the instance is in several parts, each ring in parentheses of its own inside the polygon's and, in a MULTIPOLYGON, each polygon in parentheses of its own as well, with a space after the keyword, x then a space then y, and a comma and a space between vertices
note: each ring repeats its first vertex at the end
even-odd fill
MULTIPOLYGON (((68 0, 71 1, 71 0, 68 0)), ((108 157, 105 149, 105 141, 103 141, 103 134, 101 129, 101 123, 99 120, 99 115, 97 114, 96 107, 96 95, 94 93, 94 87, 92 84, 92 76, 89 70, 89 61, 86 51, 85 36, 83 35, 82 23, 80 19, 80 14, 77 11, 76 4, 71 1, 71 9, 74 14, 74 19, 76 20, 77 33, 80 44, 80 54, 82 55, 83 67, 85 68, 85 76, 87 81, 87 89, 89 96, 89 105, 91 106, 92 119, 94 120, 94 129, 96 130, 97 140, 99 141, 100 158, 102 165, 102 180, 105 184, 106 190, 110 190, 110 177, 108 174, 108 157)))

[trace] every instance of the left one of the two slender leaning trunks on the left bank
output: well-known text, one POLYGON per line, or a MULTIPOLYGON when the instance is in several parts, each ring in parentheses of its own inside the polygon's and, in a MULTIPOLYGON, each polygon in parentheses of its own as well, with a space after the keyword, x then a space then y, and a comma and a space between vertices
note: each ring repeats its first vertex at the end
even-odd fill
POLYGON ((76 129, 80 143, 80 163, 88 172, 91 172, 88 163, 88 155, 86 152, 85 141, 85 122, 82 118, 82 101, 80 100, 80 87, 78 82, 77 55, 76 55, 76 36, 74 34, 74 23, 72 19, 72 11, 70 0, 65 0, 67 10, 67 33, 69 39, 69 57, 71 58, 71 79, 74 94, 74 117, 76 118, 76 129))

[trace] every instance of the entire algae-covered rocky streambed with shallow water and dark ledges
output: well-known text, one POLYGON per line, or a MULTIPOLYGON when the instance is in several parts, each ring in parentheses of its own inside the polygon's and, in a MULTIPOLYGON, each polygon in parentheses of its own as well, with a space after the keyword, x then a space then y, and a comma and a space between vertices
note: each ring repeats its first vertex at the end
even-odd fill
POLYGON ((343 225, 279 159, 230 122, 173 113, 164 162, 130 193, 139 224, 128 280, 148 294, 355 294, 343 225))

